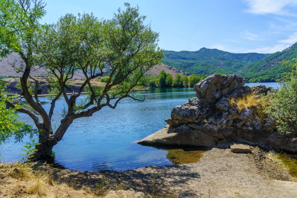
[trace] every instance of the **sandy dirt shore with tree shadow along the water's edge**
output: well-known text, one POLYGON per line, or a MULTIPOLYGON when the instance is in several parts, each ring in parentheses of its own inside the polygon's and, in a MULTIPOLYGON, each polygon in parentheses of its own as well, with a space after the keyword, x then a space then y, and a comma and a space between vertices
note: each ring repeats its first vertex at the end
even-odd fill
MULTIPOLYGON (((95 197, 108 190, 143 191, 147 197, 297 197, 297 183, 273 152, 232 153, 212 148, 200 161, 123 172, 81 172, 40 165, 50 172, 45 189, 28 193, 32 180, 18 182, 0 168, 0 197, 95 197)), ((6 170, 7 172, 7 170, 6 170)))

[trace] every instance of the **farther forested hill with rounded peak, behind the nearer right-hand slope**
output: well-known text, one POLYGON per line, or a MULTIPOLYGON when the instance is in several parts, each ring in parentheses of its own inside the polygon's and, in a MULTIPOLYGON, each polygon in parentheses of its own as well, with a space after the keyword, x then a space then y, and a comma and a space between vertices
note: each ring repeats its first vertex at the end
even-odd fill
POLYGON ((205 47, 198 51, 164 51, 163 63, 200 75, 239 73, 244 66, 266 58, 270 54, 230 53, 205 47))

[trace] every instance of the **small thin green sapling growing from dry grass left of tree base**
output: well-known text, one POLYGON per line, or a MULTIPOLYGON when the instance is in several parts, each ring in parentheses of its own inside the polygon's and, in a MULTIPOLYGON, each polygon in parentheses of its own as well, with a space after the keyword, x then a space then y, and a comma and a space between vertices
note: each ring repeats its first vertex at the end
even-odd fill
POLYGON ((28 142, 26 145, 23 145, 24 148, 22 151, 25 152, 22 154, 23 157, 21 158, 23 162, 18 163, 20 166, 20 178, 23 178, 26 167, 32 165, 32 162, 28 160, 34 157, 33 153, 37 151, 35 146, 40 145, 40 143, 35 142, 35 139, 32 139, 31 141, 32 143, 28 142))

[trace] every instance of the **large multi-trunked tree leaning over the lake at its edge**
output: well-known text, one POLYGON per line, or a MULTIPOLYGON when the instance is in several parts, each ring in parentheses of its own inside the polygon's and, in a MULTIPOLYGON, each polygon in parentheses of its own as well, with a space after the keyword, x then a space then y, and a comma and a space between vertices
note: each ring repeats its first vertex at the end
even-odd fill
POLYGON ((157 46, 159 34, 144 24, 146 17, 140 15, 138 7, 125 3, 125 10, 118 9, 111 20, 99 20, 93 14, 78 17, 67 14, 57 23, 41 26, 38 20, 45 13, 42 1, 6 0, 1 6, 5 3, 13 5, 4 6, 5 9, 17 7, 21 16, 1 12, 0 23, 4 24, 1 34, 6 35, 1 47, 6 54, 19 53, 25 62, 18 70, 23 71, 20 87, 28 105, 17 110, 28 114, 39 131, 36 158, 50 156, 53 146, 62 139, 73 120, 89 117, 104 107, 114 109, 124 98, 143 100, 135 97, 132 90, 145 82, 144 73, 159 64, 164 55, 157 46), (30 75, 36 65, 46 71, 42 77, 55 94, 48 111, 37 95, 40 82, 30 75), (69 86, 75 72, 83 73, 86 78, 76 93, 69 86), (109 79, 104 87, 91 85, 91 80, 105 75, 109 79), (33 89, 28 86, 28 79, 35 82, 33 89), (88 94, 83 99, 79 98, 82 92, 88 94), (54 128, 52 116, 59 99, 65 100, 67 108, 61 123, 54 128))

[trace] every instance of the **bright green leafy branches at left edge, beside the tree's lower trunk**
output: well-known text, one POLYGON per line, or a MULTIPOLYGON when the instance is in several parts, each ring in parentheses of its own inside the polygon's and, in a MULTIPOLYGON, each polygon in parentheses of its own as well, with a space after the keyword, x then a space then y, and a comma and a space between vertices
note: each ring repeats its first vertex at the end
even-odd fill
POLYGON ((21 142, 25 135, 29 134, 33 137, 37 134, 37 130, 18 120, 19 116, 15 110, 20 108, 19 105, 15 108, 7 108, 5 102, 15 102, 15 96, 6 97, 3 92, 5 86, 6 83, 0 80, 0 144, 11 136, 14 136, 15 142, 21 142))

